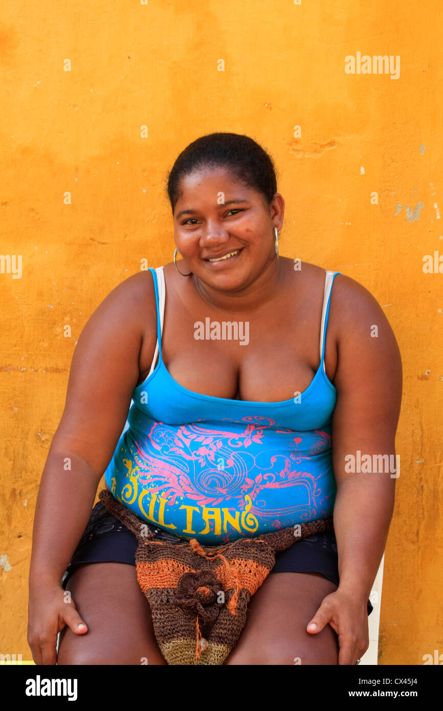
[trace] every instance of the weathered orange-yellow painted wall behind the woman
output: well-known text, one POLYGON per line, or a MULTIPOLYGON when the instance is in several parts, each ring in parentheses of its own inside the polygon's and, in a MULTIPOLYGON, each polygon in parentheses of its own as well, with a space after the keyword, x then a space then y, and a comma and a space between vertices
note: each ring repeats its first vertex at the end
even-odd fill
POLYGON ((0 252, 23 273, 0 274, 2 653, 31 658, 33 513, 75 342, 140 260, 172 260, 166 171, 213 131, 274 157, 282 255, 357 279, 393 326, 405 379, 379 663, 443 653, 443 274, 422 270, 443 255, 442 20, 441 0, 3 4, 0 252), (346 74, 357 52, 400 56, 400 77, 346 74))

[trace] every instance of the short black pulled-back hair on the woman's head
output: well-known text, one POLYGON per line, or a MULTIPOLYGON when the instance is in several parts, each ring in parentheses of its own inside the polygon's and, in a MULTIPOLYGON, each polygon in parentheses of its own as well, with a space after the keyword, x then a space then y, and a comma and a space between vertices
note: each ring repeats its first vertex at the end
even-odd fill
POLYGON ((256 141, 242 134, 206 134, 181 151, 166 178, 173 215, 181 179, 195 170, 211 167, 228 169, 247 188, 261 193, 268 205, 277 193, 274 161, 256 141))

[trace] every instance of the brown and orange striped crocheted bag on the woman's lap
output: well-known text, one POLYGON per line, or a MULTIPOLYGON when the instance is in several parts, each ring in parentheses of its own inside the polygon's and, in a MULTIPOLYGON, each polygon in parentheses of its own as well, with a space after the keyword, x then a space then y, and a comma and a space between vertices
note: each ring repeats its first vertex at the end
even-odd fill
POLYGON ((275 562, 275 552, 333 519, 302 523, 225 545, 154 540, 151 526, 109 491, 100 501, 137 538, 137 579, 151 608, 154 634, 168 664, 223 664, 245 626, 247 604, 275 562))

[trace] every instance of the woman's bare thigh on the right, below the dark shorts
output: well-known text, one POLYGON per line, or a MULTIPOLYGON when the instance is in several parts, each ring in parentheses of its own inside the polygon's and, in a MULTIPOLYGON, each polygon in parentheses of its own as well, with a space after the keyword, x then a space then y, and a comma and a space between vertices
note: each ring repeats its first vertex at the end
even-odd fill
POLYGON ((338 664, 338 637, 327 624, 306 627, 337 586, 320 573, 272 573, 250 599, 247 621, 225 664, 338 664))

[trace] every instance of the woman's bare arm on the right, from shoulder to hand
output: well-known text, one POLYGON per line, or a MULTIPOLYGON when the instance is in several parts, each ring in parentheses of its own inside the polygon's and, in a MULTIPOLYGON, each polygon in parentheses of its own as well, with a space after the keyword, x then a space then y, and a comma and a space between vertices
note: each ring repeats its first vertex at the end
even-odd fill
POLYGON ((332 419, 337 483, 333 525, 340 583, 336 592, 324 598, 306 629, 316 634, 329 623, 338 635, 338 664, 355 664, 368 649, 366 604, 393 515, 402 365, 388 320, 361 284, 338 275, 331 310, 341 316, 332 419), (363 464, 358 471, 358 453, 363 462, 368 455, 367 471, 363 464), (388 460, 386 469, 378 459, 383 455, 388 460), (350 471, 352 460, 356 471, 350 471))

